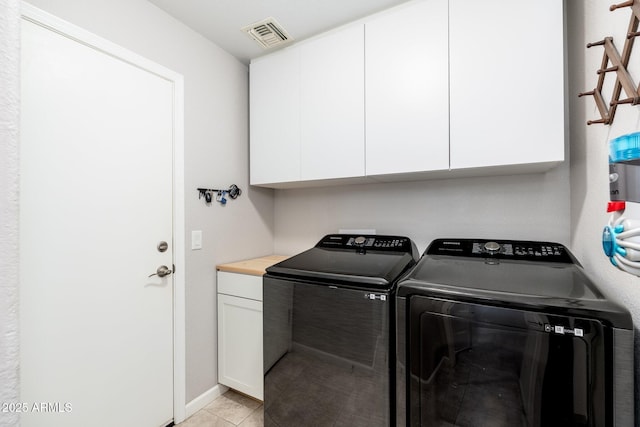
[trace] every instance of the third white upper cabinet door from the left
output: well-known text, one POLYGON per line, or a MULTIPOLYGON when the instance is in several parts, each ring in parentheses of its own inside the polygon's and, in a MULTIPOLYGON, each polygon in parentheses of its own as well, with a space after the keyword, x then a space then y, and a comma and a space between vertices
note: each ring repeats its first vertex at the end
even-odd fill
POLYGON ((366 23, 366 173, 449 167, 447 0, 366 23))

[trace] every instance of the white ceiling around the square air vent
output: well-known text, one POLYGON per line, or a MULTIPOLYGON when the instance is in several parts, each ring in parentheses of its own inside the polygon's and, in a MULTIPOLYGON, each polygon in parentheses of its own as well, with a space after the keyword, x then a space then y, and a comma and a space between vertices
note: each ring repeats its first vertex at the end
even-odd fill
POLYGON ((248 64, 277 49, 263 49, 241 30, 249 24, 273 17, 300 41, 407 0, 149 1, 248 64))

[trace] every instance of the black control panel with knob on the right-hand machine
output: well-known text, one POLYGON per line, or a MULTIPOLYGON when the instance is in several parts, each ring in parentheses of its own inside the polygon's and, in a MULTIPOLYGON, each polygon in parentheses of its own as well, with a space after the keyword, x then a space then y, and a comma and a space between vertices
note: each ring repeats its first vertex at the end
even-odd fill
POLYGON ((429 255, 514 259, 574 263, 563 245, 526 240, 436 239, 425 252, 429 255))

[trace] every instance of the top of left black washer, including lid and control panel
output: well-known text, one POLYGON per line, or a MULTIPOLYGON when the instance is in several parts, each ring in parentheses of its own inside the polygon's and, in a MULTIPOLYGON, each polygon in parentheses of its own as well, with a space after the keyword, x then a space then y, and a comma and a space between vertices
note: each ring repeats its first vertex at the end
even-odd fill
POLYGON ((415 244, 407 237, 333 234, 269 267, 267 274, 387 289, 416 258, 415 244))

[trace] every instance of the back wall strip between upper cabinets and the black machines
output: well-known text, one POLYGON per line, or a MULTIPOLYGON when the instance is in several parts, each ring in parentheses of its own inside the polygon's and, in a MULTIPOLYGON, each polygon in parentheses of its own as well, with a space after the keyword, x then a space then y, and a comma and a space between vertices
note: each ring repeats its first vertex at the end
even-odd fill
POLYGON ((276 191, 277 253, 308 249, 341 228, 406 235, 420 252, 437 237, 568 244, 569 166, 530 175, 276 191))

